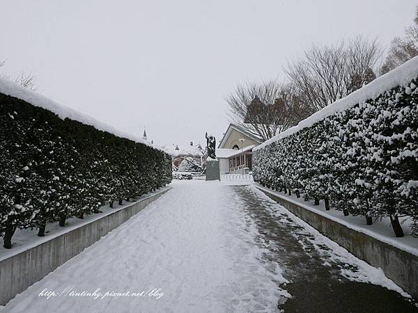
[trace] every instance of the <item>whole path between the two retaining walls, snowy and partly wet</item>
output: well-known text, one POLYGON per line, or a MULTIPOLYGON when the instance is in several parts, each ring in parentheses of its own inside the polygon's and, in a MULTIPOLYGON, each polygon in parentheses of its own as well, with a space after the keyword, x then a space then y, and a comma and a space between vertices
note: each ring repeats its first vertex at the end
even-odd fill
POLYGON ((285 312, 362 312, 362 297, 383 299, 368 312, 414 312, 397 292, 362 283, 402 292, 381 271, 286 212, 254 187, 175 182, 3 312, 278 312, 279 303, 285 312), (56 296, 38 296, 44 289, 56 296), (75 296, 82 291, 97 297, 75 296), (322 310, 324 301, 349 310, 322 310))

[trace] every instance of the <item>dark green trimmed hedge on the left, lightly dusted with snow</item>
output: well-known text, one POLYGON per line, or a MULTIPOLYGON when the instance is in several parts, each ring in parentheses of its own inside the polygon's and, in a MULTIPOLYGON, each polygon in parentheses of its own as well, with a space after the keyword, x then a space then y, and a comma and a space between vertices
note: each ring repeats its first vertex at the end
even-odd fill
POLYGON ((0 232, 82 218, 171 182, 171 157, 146 143, 0 93, 0 232), (118 134, 117 134, 118 135, 118 134))

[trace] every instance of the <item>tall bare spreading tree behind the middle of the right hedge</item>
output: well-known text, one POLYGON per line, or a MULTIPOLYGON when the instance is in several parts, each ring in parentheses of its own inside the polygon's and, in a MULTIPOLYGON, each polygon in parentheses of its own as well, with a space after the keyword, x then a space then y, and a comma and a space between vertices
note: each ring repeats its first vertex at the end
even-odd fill
POLYGON ((373 67, 380 56, 376 40, 359 36, 338 45, 314 45, 284 71, 307 109, 315 112, 375 79, 373 67))

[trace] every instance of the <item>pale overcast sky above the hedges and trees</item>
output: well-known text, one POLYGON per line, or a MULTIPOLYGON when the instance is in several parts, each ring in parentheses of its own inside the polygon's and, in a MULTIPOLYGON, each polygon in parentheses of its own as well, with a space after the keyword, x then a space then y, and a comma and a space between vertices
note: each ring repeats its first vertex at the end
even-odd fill
POLYGON ((164 145, 217 141, 236 83, 284 79, 312 42, 358 34, 383 47, 412 24, 412 0, 2 1, 3 71, 164 145))

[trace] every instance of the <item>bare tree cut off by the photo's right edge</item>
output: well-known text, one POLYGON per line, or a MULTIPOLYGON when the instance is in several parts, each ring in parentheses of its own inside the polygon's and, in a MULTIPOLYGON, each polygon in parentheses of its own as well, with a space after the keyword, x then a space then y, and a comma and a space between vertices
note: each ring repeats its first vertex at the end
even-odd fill
POLYGON ((414 56, 418 56, 418 7, 415 10, 414 23, 405 29, 404 38, 396 37, 392 40, 385 62, 380 68, 381 74, 385 74, 414 56))

